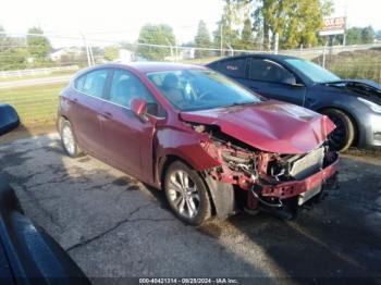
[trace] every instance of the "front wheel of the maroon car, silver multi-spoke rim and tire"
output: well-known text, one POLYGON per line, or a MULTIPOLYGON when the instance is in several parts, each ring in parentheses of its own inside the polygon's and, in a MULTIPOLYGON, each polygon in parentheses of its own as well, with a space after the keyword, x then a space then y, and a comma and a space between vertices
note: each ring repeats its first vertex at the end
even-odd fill
POLYGON ((202 177, 186 164, 175 161, 168 168, 164 191, 172 211, 183 222, 200 225, 210 218, 207 186, 202 177))

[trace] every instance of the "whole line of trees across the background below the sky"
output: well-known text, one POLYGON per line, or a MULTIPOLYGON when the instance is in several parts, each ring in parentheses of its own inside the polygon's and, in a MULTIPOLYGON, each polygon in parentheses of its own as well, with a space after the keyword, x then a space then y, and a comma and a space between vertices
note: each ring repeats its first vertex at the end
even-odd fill
MULTIPOLYGON (((229 54, 230 50, 272 50, 309 48, 324 45, 327 37, 319 37, 323 17, 333 11, 331 0, 221 0, 223 11, 214 30, 208 30, 205 21, 199 21, 196 35, 189 42, 179 44, 173 28, 167 24, 146 24, 140 28, 137 42, 93 47, 94 53, 112 61, 118 59, 119 49, 130 49, 143 59, 164 60, 177 53, 176 46, 205 48, 196 49, 195 58, 229 54), (159 45, 150 46, 150 45, 159 45), (207 50, 207 49, 216 49, 207 50)), ((30 27, 26 37, 7 35, 0 25, 0 70, 49 66, 53 64, 49 54, 52 46, 40 27, 30 27)), ((346 30, 346 45, 370 44, 381 39, 381 30, 368 27, 352 27, 346 30)), ((331 38, 333 45, 344 41, 342 35, 331 38)), ((86 63, 82 48, 79 55, 63 54, 60 63, 86 63)))

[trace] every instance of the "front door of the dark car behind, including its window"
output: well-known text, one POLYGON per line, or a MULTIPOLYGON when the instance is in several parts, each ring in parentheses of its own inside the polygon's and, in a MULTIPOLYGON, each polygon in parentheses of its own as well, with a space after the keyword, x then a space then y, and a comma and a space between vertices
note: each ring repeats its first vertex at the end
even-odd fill
POLYGON ((280 63, 265 58, 251 58, 246 86, 271 99, 303 106, 306 87, 298 77, 280 63))

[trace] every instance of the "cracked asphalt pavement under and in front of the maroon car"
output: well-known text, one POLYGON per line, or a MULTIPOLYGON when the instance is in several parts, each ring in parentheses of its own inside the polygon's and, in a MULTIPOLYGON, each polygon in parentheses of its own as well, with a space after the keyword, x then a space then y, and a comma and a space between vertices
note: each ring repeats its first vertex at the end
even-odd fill
POLYGON ((186 226, 163 195, 56 134, 0 146, 26 214, 97 283, 105 276, 381 277, 381 159, 346 156, 341 189, 296 221, 235 215, 186 226))

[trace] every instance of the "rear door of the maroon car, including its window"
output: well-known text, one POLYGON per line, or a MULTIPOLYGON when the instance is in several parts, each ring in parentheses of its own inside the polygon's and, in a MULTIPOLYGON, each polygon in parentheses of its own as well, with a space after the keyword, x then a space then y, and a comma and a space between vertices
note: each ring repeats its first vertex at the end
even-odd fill
POLYGON ((109 71, 106 69, 88 72, 74 83, 71 96, 70 121, 76 139, 88 152, 103 154, 103 139, 100 135, 99 111, 109 71))

